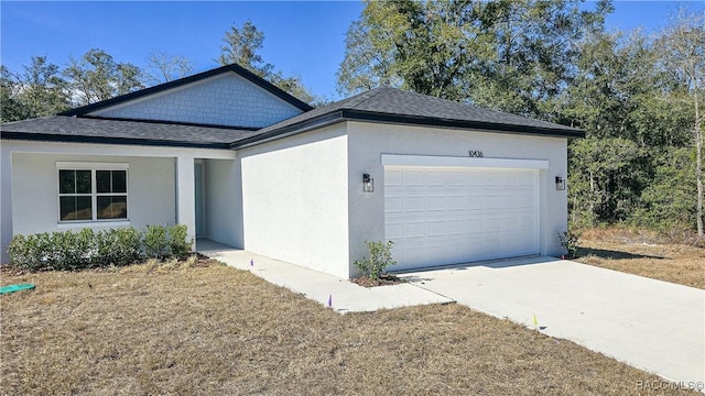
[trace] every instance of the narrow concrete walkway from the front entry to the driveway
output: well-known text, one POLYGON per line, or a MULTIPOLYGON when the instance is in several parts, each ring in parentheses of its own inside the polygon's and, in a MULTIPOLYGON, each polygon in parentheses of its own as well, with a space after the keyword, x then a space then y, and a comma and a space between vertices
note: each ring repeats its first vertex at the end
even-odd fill
POLYGON ((340 314, 454 302, 451 298, 413 284, 366 288, 347 279, 208 240, 198 240, 197 250, 208 257, 238 270, 250 271, 264 280, 302 294, 326 307, 330 301, 330 308, 340 314))

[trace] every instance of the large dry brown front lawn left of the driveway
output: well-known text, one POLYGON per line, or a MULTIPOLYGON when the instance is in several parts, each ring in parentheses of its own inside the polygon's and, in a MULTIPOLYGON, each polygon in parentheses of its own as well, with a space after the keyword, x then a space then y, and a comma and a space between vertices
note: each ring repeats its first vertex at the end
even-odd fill
POLYGON ((2 276, 26 282, 0 297, 2 394, 679 393, 457 305, 340 316, 219 265, 2 276))

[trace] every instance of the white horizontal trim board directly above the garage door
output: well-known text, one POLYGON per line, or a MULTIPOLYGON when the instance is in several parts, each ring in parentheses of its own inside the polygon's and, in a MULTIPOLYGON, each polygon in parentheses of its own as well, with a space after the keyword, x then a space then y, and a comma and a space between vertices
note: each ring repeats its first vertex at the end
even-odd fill
POLYGON ((382 154, 383 166, 547 169, 549 160, 471 158, 382 154))

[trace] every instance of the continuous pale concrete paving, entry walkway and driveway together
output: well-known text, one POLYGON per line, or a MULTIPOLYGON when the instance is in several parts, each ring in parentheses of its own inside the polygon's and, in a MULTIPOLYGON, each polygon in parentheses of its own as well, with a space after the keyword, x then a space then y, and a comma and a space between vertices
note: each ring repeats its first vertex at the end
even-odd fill
POLYGON ((324 306, 330 299, 340 314, 457 301, 671 381, 705 382, 702 289, 551 257, 403 273, 405 284, 365 288, 207 240, 198 251, 324 306))

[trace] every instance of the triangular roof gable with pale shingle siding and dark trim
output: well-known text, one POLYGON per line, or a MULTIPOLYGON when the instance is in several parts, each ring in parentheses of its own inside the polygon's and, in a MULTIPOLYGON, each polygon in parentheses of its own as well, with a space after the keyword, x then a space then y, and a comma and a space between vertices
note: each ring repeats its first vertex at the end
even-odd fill
POLYGON ((242 67, 228 65, 61 116, 263 128, 311 109, 242 67))

